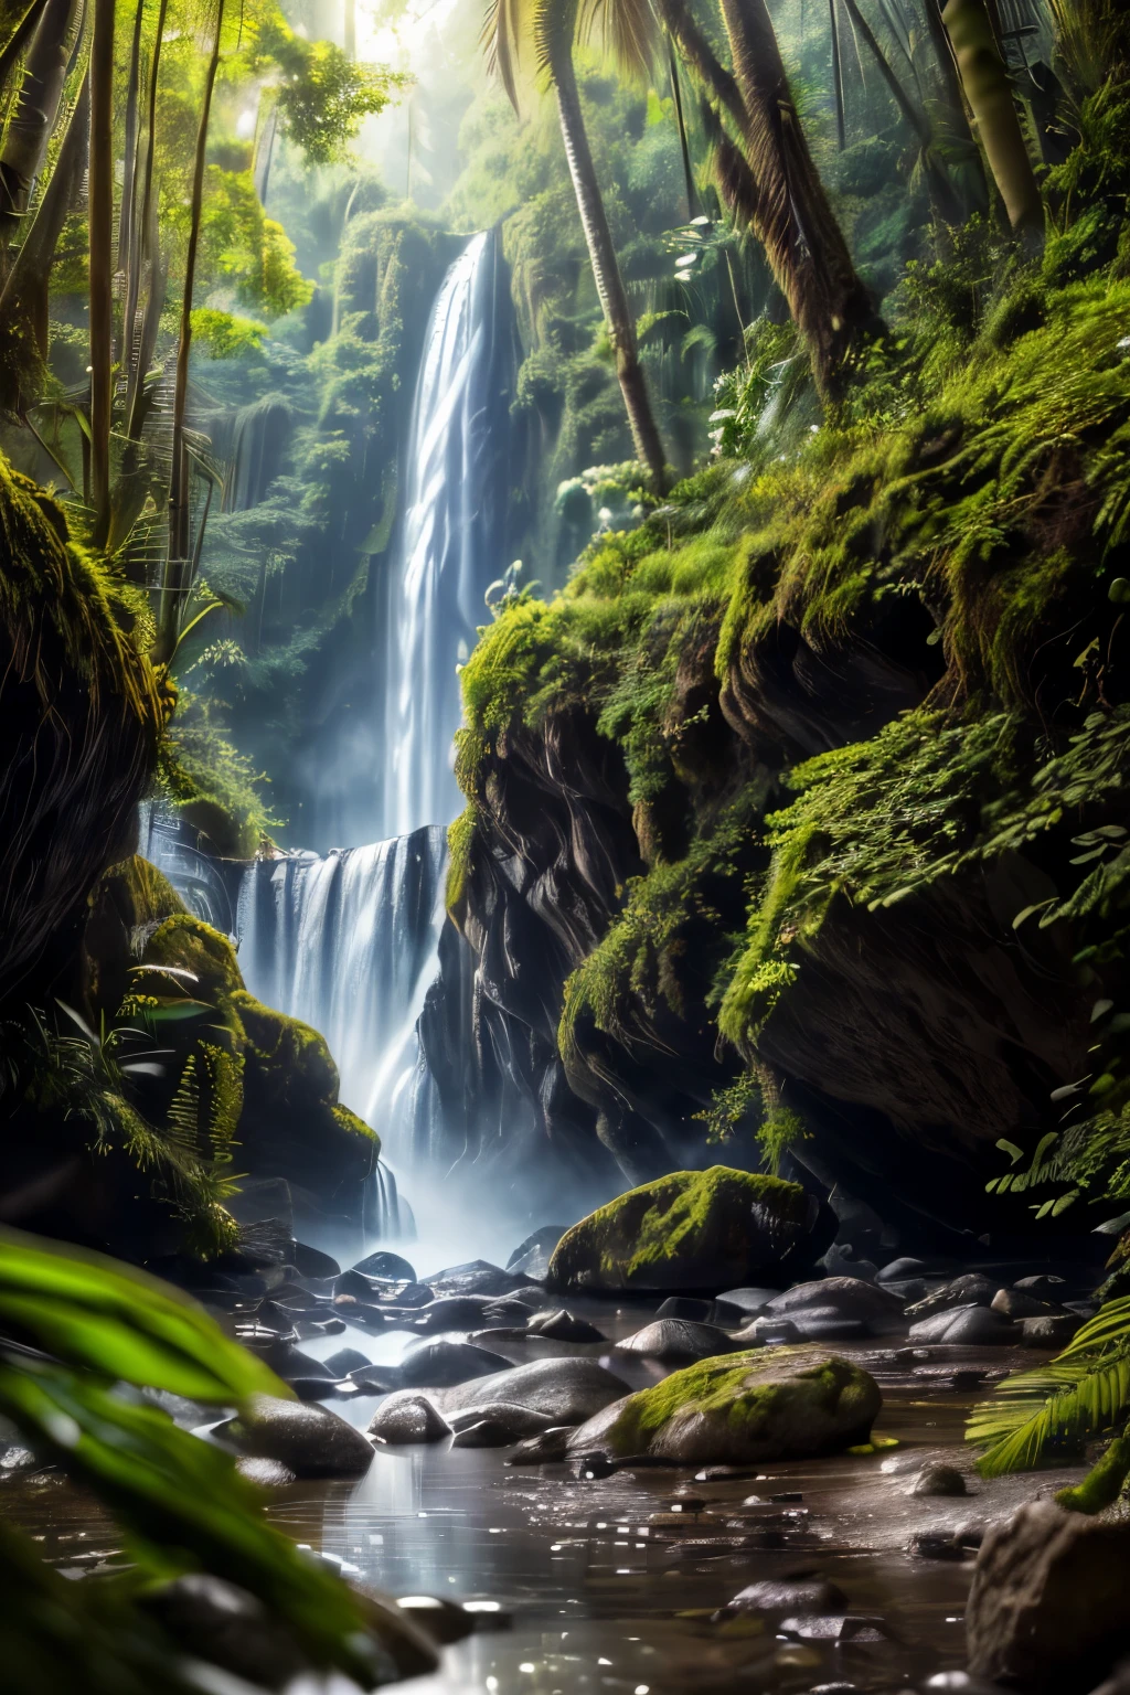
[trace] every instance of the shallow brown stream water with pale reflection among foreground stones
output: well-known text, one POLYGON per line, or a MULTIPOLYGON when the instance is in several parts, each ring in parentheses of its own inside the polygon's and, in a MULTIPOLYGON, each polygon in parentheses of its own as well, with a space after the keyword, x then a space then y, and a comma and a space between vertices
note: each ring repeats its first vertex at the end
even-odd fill
MULTIPOLYGON (((586 1348, 483 1337, 515 1363, 586 1354, 634 1387, 662 1375, 612 1349, 654 1303, 571 1300, 608 1337, 586 1348)), ((327 1353, 357 1344, 396 1358, 412 1332, 303 1344, 327 1353)), ((298 1483, 268 1512, 296 1541, 346 1564, 347 1575, 417 1597, 427 1627, 474 1627, 444 1651, 440 1671, 405 1685, 415 1695, 573 1695, 667 1690, 781 1690, 823 1685, 901 1690, 964 1663, 964 1598, 972 1553, 923 1558, 911 1537, 969 1541, 1037 1492, 1079 1471, 981 1483, 962 1441, 964 1417, 991 1381, 1042 1354, 1011 1348, 842 1344, 879 1380, 878 1431, 898 1446, 703 1478, 691 1468, 622 1470, 583 1478, 576 1466, 510 1466, 510 1449, 378 1449, 357 1483, 298 1483), (966 1473, 966 1497, 913 1497, 923 1464, 966 1473), (751 1500, 751 1497, 757 1497, 751 1500), (820 1573, 847 1605, 800 1629, 757 1615, 715 1617, 761 1580, 820 1573), (424 1605, 420 1605, 424 1603, 424 1605), (822 1634, 835 1631, 837 1639, 822 1634)), ((329 1405, 364 1427, 376 1397, 329 1405)), ((97 1509, 66 1483, 8 1478, 5 1500, 49 1558, 90 1571, 117 1558, 97 1509)))

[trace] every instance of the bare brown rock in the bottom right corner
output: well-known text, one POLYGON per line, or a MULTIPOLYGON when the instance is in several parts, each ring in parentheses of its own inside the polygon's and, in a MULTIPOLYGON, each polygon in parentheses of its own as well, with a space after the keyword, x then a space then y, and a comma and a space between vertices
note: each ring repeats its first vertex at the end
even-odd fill
POLYGON ((1027 1502, 981 1544, 966 1603, 969 1670, 1035 1695, 1083 1695, 1127 1651, 1130 1524, 1027 1502))

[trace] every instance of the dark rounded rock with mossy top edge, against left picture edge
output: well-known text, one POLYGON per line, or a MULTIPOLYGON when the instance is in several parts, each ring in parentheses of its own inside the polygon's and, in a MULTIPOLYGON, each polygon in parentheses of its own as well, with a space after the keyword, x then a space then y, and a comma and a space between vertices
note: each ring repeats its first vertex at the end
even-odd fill
POLYGON ((136 609, 2 459, 0 527, 0 1003, 20 1005, 75 954, 88 892, 134 846, 163 712, 136 609))

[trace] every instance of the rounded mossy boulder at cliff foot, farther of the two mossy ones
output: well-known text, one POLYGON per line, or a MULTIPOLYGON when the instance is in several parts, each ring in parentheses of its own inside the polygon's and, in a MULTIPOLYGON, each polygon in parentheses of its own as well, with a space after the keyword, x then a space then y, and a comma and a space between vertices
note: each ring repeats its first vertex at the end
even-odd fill
POLYGON ((800 1264, 817 1203, 798 1183, 710 1166, 673 1171, 591 1212, 557 1242, 554 1290, 735 1288, 800 1264))

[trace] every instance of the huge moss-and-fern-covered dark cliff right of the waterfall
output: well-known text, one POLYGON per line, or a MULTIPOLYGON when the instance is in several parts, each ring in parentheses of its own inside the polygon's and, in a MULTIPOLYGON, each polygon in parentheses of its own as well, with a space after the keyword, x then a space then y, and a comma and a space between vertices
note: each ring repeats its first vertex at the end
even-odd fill
POLYGON ((451 905, 595 1171, 786 1151, 906 1241, 1123 1193, 1130 286, 1088 264, 1001 261, 485 631, 451 905))

